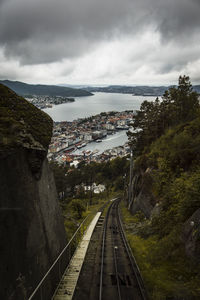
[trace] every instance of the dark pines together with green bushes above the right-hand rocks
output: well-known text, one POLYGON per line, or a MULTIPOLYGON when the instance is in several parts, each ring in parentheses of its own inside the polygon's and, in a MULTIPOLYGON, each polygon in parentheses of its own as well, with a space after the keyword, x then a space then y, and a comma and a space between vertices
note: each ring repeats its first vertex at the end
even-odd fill
POLYGON ((180 77, 163 101, 144 102, 133 126, 140 128, 131 136, 140 153, 135 171, 152 169, 152 193, 162 211, 153 224, 164 235, 200 208, 199 101, 189 77, 180 77))

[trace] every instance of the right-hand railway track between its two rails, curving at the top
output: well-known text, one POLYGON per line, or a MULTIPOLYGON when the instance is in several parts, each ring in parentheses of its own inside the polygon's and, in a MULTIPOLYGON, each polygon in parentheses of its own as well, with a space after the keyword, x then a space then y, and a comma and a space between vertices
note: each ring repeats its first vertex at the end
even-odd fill
POLYGON ((143 281, 126 241, 119 216, 119 199, 105 217, 100 261, 99 300, 147 300, 143 281))

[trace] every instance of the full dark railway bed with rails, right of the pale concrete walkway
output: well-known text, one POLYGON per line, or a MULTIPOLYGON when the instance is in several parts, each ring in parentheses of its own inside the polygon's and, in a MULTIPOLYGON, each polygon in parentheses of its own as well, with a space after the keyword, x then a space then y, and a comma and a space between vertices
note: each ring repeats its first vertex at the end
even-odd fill
MULTIPOLYGON (((113 199, 95 227, 73 300, 147 300, 113 199)), ((103 207, 102 207, 103 210, 103 207)))

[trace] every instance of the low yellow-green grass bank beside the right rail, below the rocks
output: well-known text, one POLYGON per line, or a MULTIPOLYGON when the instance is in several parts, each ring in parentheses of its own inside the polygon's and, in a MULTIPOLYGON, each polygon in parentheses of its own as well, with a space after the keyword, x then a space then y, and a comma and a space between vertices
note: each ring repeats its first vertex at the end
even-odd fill
MULTIPOLYGON (((200 297, 200 268, 184 254, 178 232, 163 239, 156 234, 143 237, 146 222, 132 216, 122 204, 126 235, 141 270, 149 298, 152 300, 200 297), (175 298, 177 297, 177 298, 175 298)), ((188 298, 186 298, 188 299, 188 298)))

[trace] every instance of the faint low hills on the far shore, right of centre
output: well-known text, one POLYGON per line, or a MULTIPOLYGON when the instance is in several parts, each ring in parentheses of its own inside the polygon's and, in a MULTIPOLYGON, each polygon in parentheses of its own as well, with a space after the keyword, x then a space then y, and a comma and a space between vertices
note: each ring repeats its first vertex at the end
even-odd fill
MULTIPOLYGON (((107 87, 87 87, 89 92, 121 93, 139 96, 162 96, 170 86, 123 86, 111 85, 107 87)), ((200 93, 200 85, 193 86, 197 93, 200 93)))

